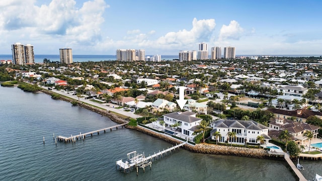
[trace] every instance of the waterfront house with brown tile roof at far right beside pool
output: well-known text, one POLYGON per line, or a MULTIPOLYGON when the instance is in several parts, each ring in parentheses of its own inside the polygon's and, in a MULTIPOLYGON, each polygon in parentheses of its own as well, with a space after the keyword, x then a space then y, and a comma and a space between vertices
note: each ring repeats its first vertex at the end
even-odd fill
POLYGON ((308 140, 307 137, 304 136, 304 133, 311 131, 313 133, 313 139, 316 139, 319 127, 307 123, 294 122, 288 119, 276 118, 269 123, 268 135, 272 139, 278 140, 278 136, 284 130, 287 130, 291 134, 292 140, 298 141, 303 144, 303 141, 306 142, 308 140))

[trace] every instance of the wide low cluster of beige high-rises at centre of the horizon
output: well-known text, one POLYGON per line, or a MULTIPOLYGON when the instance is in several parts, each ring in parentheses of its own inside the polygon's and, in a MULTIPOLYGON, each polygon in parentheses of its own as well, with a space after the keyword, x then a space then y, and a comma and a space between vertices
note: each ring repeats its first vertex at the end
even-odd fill
POLYGON ((144 61, 145 50, 117 49, 116 60, 118 61, 144 61))

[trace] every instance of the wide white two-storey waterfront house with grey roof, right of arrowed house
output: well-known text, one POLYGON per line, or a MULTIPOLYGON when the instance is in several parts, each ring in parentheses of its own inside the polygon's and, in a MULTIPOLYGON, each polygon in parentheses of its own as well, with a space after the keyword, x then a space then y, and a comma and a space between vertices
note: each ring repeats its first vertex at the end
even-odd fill
POLYGON ((255 121, 243 121, 243 120, 226 120, 220 119, 212 124, 213 130, 210 132, 211 139, 215 140, 212 134, 216 131, 220 132, 221 137, 218 139, 219 142, 232 142, 233 144, 245 144, 248 143, 258 143, 257 137, 263 136, 265 143, 271 139, 268 136, 268 127, 264 126, 255 121), (235 132, 236 138, 229 138, 228 132, 235 132))

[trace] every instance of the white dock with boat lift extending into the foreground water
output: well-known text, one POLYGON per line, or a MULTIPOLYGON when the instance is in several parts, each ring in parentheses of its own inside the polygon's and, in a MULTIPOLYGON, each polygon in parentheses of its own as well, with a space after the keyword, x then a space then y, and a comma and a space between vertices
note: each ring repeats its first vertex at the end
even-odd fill
POLYGON ((127 161, 123 162, 122 159, 115 162, 116 169, 123 169, 124 172, 131 171, 131 168, 136 168, 136 175, 138 175, 138 168, 143 168, 143 172, 145 172, 145 167, 150 166, 150 169, 152 167, 152 158, 157 159, 157 157, 164 156, 167 153, 170 153, 172 150, 176 150, 176 148, 179 148, 183 145, 185 145, 187 142, 183 142, 179 145, 173 146, 168 149, 164 149, 163 151, 159 151, 157 153, 154 152, 153 155, 149 155, 148 157, 144 156, 143 154, 137 154, 136 151, 132 151, 130 153, 127 153, 127 161))

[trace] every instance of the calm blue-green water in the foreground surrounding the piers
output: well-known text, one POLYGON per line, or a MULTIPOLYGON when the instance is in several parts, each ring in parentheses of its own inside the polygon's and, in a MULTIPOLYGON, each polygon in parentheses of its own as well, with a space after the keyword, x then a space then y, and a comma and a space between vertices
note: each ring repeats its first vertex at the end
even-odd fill
MULTIPOLYGON (((122 128, 55 146, 53 133, 69 136, 116 123, 42 93, 0 87, 0 95, 0 180, 295 180, 284 161, 183 149, 153 161, 152 169, 145 173, 140 169, 138 176, 135 171, 123 173, 115 169, 115 161, 126 158, 128 152, 148 155, 171 144, 122 128)), ((307 178, 319 173, 322 165, 320 161, 301 163, 307 178)))

